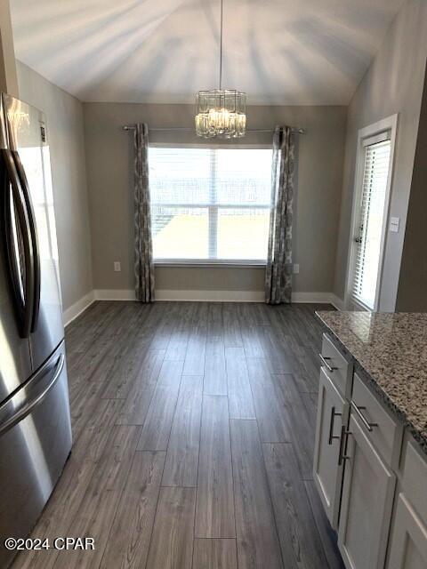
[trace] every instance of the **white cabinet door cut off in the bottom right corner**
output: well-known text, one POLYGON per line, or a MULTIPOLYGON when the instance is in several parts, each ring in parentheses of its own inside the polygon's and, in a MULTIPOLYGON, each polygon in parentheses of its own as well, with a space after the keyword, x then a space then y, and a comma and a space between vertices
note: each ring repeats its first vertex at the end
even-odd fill
POLYGON ((388 569, 425 569, 427 567, 427 527, 416 515, 403 493, 391 534, 388 569))

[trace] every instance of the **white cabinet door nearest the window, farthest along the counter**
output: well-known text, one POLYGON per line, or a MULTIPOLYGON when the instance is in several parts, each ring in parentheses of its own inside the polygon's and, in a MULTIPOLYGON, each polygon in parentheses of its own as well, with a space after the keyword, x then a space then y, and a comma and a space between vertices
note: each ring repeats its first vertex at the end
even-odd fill
POLYGON ((340 507, 342 466, 338 464, 343 421, 348 404, 323 369, 318 384, 318 417, 313 476, 331 525, 336 528, 340 507))

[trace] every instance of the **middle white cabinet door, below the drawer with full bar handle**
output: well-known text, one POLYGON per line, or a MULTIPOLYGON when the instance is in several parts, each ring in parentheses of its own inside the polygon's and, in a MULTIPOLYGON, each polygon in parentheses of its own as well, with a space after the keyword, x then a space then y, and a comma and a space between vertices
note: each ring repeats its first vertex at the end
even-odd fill
POLYGON ((396 477, 350 418, 338 546, 348 569, 384 566, 396 477))

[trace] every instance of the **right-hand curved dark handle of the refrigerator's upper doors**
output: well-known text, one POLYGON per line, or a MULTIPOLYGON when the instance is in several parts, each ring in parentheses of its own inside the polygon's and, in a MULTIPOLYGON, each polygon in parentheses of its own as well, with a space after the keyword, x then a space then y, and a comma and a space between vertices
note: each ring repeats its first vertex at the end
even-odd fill
POLYGON ((40 250, 38 247, 36 215, 34 213, 33 204, 31 202, 27 175, 25 173, 24 166, 22 165, 22 162, 20 160, 20 154, 18 150, 12 150, 12 156, 15 162, 16 171, 18 172, 18 176, 20 179, 20 187, 22 188, 22 193, 24 195, 25 205, 28 214, 28 221, 29 221, 29 231, 31 234, 31 243, 33 246, 34 291, 33 291, 33 314, 32 314, 32 323, 31 323, 31 332, 36 332, 38 324, 38 313, 40 309, 40 283, 41 283, 40 250))

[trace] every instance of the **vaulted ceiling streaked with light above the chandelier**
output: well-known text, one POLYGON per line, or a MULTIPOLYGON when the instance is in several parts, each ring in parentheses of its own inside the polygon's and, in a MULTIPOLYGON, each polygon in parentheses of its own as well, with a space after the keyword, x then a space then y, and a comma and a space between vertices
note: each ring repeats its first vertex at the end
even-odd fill
MULTIPOLYGON (((348 104, 404 0, 224 0, 223 86, 348 104)), ((218 86, 220 0, 11 0, 19 60, 85 101, 193 102, 218 86)))

